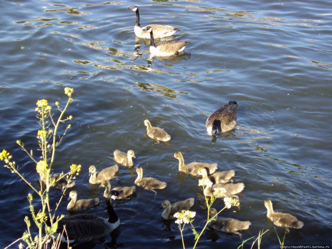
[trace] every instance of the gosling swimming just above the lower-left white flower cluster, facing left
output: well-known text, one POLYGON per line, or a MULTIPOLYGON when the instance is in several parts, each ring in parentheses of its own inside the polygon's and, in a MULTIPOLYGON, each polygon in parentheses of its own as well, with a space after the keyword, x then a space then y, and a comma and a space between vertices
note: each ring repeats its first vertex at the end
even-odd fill
POLYGON ((161 207, 159 209, 164 208, 163 212, 161 213, 161 217, 164 219, 175 219, 173 216, 176 212, 181 212, 182 210, 189 210, 193 207, 195 202, 194 198, 189 198, 184 201, 176 202, 171 205, 171 203, 166 200, 161 203, 161 207))

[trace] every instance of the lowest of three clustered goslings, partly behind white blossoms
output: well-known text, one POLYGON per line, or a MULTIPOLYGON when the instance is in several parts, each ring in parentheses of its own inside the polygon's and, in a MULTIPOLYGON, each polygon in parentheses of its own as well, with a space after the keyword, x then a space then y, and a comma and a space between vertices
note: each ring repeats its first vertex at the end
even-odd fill
POLYGON ((205 196, 213 196, 216 198, 231 197, 237 193, 240 193, 244 189, 243 183, 216 183, 212 185, 212 182, 207 182, 207 186, 204 189, 205 196), (214 196, 213 192, 215 188, 224 188, 226 193, 214 196))

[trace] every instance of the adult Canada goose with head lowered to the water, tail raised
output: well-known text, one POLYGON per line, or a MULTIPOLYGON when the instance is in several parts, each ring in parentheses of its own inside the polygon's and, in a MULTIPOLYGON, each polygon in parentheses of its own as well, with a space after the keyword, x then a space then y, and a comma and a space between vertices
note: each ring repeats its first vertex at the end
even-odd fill
POLYGON ((207 118, 205 127, 207 133, 213 137, 219 132, 225 132, 234 129, 236 125, 236 113, 238 104, 236 101, 229 101, 228 104, 218 108, 207 118))

